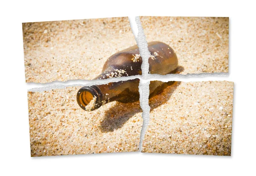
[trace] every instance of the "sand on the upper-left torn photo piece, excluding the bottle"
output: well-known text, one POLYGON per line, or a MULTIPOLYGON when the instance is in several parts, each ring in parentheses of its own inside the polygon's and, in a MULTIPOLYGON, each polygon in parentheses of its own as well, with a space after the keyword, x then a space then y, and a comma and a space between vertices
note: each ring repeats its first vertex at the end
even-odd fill
POLYGON ((23 23, 26 82, 91 80, 135 44, 128 17, 23 23))

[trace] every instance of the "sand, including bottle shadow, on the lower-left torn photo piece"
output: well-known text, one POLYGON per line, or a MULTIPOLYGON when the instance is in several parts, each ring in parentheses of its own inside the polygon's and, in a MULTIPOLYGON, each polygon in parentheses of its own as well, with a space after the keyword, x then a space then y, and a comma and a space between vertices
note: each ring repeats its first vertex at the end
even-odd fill
POLYGON ((28 92, 31 156, 138 151, 140 102, 113 101, 87 112, 76 101, 80 88, 28 92))

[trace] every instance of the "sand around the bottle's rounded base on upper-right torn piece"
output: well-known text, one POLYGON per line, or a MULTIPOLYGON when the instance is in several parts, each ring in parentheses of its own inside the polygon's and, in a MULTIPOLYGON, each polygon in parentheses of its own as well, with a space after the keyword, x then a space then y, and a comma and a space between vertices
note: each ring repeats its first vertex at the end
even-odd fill
POLYGON ((146 40, 171 46, 180 74, 228 72, 228 17, 140 17, 146 40))

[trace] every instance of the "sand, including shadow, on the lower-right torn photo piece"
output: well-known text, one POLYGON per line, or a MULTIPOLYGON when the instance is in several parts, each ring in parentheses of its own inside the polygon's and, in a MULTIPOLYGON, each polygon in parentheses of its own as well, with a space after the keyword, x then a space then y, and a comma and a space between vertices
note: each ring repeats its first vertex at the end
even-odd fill
POLYGON ((175 82, 149 105, 142 152, 231 155, 233 82, 175 82))

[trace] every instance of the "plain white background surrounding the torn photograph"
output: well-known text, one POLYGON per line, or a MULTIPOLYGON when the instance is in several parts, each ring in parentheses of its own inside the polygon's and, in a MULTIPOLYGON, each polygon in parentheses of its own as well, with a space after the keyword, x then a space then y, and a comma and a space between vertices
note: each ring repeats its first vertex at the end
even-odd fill
MULTIPOLYGON (((253 1, 125 1, 0 4, 0 174, 1 175, 254 175, 256 125, 256 28, 253 1), (177 78, 177 81, 235 82, 232 156, 106 153, 30 157, 27 89, 23 60, 23 22, 121 16, 230 17, 228 77, 177 78), (254 164, 253 164, 254 163, 254 164)), ((80 82, 81 83, 81 82, 80 82)))

